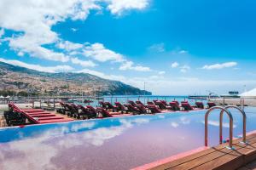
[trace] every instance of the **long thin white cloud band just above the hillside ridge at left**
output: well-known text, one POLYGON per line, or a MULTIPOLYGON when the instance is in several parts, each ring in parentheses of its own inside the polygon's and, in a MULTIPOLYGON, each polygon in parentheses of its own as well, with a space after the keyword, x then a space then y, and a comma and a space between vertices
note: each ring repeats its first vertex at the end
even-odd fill
POLYGON ((3 59, 0 58, 1 62, 8 63, 9 65, 17 65, 21 67, 26 67, 35 71, 44 71, 44 72, 63 72, 63 71, 73 71, 73 68, 69 65, 56 65, 56 66, 41 66, 41 65, 31 65, 21 62, 19 60, 12 59, 3 59))

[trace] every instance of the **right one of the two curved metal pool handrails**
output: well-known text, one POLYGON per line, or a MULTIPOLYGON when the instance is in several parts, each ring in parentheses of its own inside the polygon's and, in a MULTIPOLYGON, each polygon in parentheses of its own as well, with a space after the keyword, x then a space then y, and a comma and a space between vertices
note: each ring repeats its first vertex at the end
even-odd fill
MULTIPOLYGON (((225 107, 226 110, 230 109, 230 108, 233 108, 233 109, 236 109, 238 111, 241 112, 241 115, 242 115, 242 142, 244 144, 246 144, 246 132, 247 132, 247 115, 246 113, 240 108, 240 107, 237 107, 236 105, 227 105, 225 107)), ((224 111, 221 111, 220 112, 220 115, 219 115, 219 144, 222 144, 222 128, 223 128, 223 114, 224 114, 224 111)))

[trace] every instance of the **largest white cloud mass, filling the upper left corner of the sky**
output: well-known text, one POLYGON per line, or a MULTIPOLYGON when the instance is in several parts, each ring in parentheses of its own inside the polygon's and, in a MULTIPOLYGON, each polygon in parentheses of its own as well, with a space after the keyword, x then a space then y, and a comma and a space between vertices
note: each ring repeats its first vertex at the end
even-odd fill
POLYGON ((22 32, 9 38, 10 48, 17 52, 21 51, 41 59, 67 62, 69 58, 65 54, 43 47, 58 40, 58 35, 51 30, 51 26, 68 17, 73 20, 85 19, 92 8, 98 8, 92 0, 3 0, 0 3, 3 13, 0 16, 0 26, 22 32))

